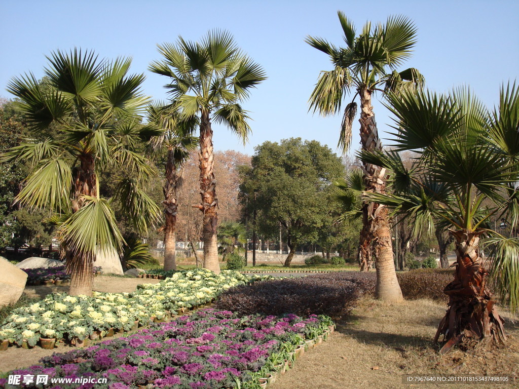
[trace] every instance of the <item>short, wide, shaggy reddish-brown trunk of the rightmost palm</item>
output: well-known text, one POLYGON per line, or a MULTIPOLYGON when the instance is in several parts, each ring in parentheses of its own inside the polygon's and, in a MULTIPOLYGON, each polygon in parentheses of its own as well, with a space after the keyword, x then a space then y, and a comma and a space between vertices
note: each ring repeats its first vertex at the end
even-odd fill
POLYGON ((449 296, 447 313, 434 337, 443 335, 445 354, 463 338, 504 342, 503 321, 487 285, 488 272, 483 268, 479 240, 483 231, 451 231, 456 239, 456 271, 454 281, 444 289, 449 296))

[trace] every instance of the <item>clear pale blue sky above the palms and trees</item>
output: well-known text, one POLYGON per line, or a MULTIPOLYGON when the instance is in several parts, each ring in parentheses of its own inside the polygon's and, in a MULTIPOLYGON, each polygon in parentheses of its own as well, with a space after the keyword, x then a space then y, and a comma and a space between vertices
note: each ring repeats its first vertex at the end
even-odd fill
MULTIPOLYGON (((166 94, 166 79, 147 71, 159 59, 157 43, 179 35, 196 40, 213 28, 231 32, 238 45, 267 72, 268 80, 243 104, 254 119, 243 145, 225 128, 214 126, 214 146, 247 154, 262 142, 299 136, 333 150, 340 117, 308 113, 308 98, 321 70, 331 68, 324 53, 304 43, 306 35, 343 45, 337 10, 360 30, 366 20, 385 21, 403 14, 418 27, 413 57, 404 65, 425 75, 430 89, 445 92, 470 85, 488 106, 501 83, 519 81, 519 2, 516 1, 27 1, 0 0, 0 96, 12 76, 32 71, 43 76, 45 55, 73 47, 94 49, 101 57, 133 57, 132 71, 144 72, 144 91, 166 94)), ((387 135, 386 108, 375 102, 380 134, 387 135)), ((357 121, 352 148, 359 145, 357 121)), ((385 141, 385 144, 389 142, 385 141)))

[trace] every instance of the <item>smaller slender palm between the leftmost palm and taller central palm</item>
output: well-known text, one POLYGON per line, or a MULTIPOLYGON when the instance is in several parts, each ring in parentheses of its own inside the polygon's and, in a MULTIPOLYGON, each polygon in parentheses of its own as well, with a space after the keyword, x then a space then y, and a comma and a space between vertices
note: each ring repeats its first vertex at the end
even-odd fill
MULTIPOLYGON (((191 118, 193 119, 193 118, 191 118)), ((171 105, 153 105, 148 108, 148 121, 162 130, 159 136, 151 140, 152 149, 166 149, 166 182, 164 193, 164 270, 176 270, 176 214, 179 204, 177 191, 182 183, 182 164, 189 158, 189 151, 194 150, 198 138, 191 136, 196 124, 194 120, 184 121, 179 110, 171 105)))

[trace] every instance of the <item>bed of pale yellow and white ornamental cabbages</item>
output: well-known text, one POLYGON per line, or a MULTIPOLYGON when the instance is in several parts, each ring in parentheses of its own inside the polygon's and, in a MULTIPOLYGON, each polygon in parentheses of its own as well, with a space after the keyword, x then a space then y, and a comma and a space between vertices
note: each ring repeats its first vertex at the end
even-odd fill
POLYGON ((111 329, 128 331, 136 324, 164 319, 211 302, 222 291, 268 279, 236 271, 214 274, 206 269, 177 272, 158 284, 139 285, 134 293, 100 293, 92 297, 51 294, 12 311, 0 327, 0 343, 34 346, 40 338, 79 343, 103 337, 111 329), (177 312, 179 311, 179 312, 177 312))

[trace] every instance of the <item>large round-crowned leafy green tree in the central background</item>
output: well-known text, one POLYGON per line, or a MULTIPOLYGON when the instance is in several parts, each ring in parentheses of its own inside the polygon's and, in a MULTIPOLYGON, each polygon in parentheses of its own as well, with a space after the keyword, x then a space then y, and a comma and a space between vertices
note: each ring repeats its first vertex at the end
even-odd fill
POLYGON ((249 198, 250 215, 256 209, 262 234, 276 237, 283 226, 290 248, 285 267, 297 245, 317 241, 330 206, 323 199, 343 175, 340 158, 317 141, 290 138, 256 147, 252 168, 242 171, 242 198, 249 198))

